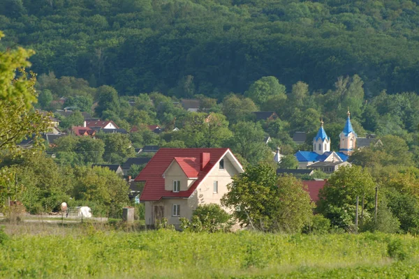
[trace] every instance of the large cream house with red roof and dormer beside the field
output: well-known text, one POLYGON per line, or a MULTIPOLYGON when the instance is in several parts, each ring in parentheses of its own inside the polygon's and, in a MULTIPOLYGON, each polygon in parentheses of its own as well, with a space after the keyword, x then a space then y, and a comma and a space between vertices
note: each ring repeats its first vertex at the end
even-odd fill
POLYGON ((135 181, 144 184, 145 223, 162 218, 178 226, 200 204, 220 204, 232 177, 243 167, 230 149, 159 149, 135 181))

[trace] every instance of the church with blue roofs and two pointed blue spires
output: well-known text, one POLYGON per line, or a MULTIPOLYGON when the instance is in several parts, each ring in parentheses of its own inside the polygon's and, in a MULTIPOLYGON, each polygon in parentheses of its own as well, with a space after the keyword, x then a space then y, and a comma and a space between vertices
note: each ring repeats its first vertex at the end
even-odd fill
POLYGON ((313 151, 298 151, 295 153, 298 168, 318 169, 325 173, 332 173, 341 166, 351 165, 347 160, 355 149, 357 137, 358 135, 352 128, 351 113, 348 111, 344 130, 339 134, 339 152, 330 151, 330 137, 323 128, 322 120, 321 127, 313 139, 313 151))

